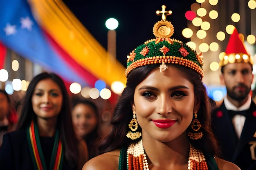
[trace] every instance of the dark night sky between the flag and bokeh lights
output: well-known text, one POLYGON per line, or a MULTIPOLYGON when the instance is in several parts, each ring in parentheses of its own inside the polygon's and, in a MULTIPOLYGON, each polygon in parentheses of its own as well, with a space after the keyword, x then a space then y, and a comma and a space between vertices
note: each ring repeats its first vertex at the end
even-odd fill
POLYGON ((173 14, 167 20, 174 26, 171 38, 186 43, 190 41, 182 36, 182 30, 187 28, 186 11, 191 10, 195 0, 63 0, 76 18, 85 26, 99 43, 107 49, 108 29, 105 22, 108 18, 116 18, 119 26, 117 33, 117 60, 126 66, 127 55, 146 40, 155 38, 154 24, 161 20, 155 11, 162 10, 173 14))

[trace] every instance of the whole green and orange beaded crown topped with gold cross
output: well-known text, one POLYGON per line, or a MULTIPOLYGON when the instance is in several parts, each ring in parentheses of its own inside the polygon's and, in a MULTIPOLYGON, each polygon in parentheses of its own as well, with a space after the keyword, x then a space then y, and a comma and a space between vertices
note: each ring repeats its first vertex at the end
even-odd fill
POLYGON ((162 64, 160 66, 162 72, 167 68, 165 64, 177 64, 191 68, 202 79, 204 75, 202 55, 183 42, 170 38, 174 33, 174 28, 171 22, 166 21, 166 15, 171 15, 172 11, 165 11, 165 8, 162 5, 162 11, 156 11, 157 15, 162 15, 162 20, 153 27, 153 34, 156 38, 137 46, 127 56, 126 77, 140 66, 162 64))

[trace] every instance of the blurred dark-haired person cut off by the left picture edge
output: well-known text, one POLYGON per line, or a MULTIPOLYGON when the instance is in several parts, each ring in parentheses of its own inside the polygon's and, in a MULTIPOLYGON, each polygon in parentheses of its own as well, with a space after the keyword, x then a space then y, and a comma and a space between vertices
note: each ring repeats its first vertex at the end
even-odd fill
POLYGON ((6 91, 0 89, 0 146, 2 144, 3 135, 13 131, 13 127, 17 121, 17 113, 12 106, 9 95, 6 91))

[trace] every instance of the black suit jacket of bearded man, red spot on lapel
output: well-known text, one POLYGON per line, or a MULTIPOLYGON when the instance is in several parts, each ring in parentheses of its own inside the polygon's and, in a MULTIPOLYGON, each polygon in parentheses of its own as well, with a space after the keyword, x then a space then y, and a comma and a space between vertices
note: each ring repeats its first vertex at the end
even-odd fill
MULTIPOLYGON (((212 130, 222 151, 222 158, 235 163, 241 170, 256 170, 256 160, 252 160, 251 142, 256 142, 256 105, 252 101, 246 113, 245 124, 238 139, 229 111, 224 102, 212 112, 212 130)), ((256 153, 256 149, 254 148, 256 153)))

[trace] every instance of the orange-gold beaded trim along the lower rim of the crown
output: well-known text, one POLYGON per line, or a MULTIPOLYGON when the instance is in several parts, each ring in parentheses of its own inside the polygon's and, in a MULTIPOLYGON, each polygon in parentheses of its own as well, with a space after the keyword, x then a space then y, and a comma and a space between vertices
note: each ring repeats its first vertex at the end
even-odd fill
POLYGON ((132 71, 137 67, 145 66, 148 64, 157 64, 157 63, 161 64, 163 62, 166 64, 177 64, 177 65, 182 65, 182 66, 191 68, 197 73, 199 73, 201 78, 204 77, 203 70, 202 68, 200 68, 200 66, 198 66, 198 64, 190 60, 187 60, 185 58, 175 57, 175 56, 156 56, 156 57, 149 57, 149 58, 147 57, 147 58, 139 59, 133 62, 132 64, 130 64, 128 68, 126 68, 125 75, 127 77, 128 73, 130 73, 130 71, 132 71))

